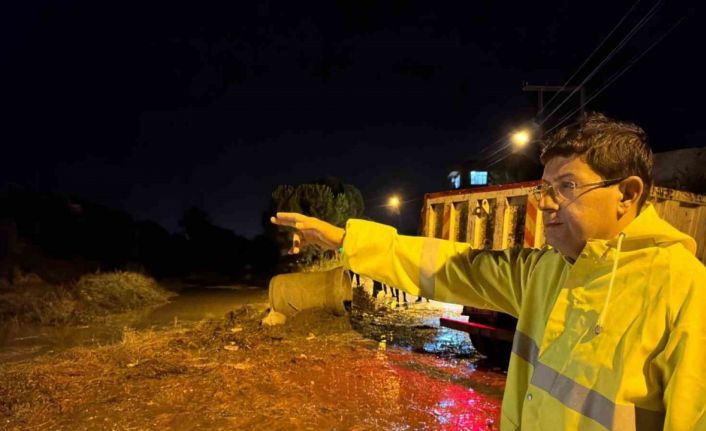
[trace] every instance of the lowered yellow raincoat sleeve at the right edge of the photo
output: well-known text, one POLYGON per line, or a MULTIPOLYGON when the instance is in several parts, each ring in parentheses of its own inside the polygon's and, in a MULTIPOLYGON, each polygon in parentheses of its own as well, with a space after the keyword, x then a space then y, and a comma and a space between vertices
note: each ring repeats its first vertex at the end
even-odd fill
POLYGON ((673 276, 671 330, 656 357, 669 431, 706 429, 706 268, 696 265, 686 276, 673 276))

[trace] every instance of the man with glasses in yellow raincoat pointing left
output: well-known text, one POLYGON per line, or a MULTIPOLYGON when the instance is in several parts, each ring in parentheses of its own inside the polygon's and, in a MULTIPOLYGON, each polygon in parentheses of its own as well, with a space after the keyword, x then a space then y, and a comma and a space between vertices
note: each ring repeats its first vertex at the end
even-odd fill
POLYGON ((542 162, 542 249, 272 221, 297 230, 293 253, 342 247, 357 273, 517 317, 502 430, 706 430, 706 268, 646 202, 645 133, 593 114, 550 137, 542 162))

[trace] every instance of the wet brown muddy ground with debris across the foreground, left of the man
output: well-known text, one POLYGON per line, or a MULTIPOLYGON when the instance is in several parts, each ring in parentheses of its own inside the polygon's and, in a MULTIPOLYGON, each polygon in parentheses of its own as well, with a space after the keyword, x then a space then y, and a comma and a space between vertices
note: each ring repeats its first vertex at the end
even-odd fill
MULTIPOLYGON (((497 429, 502 374, 475 370, 464 354, 384 345, 377 337, 390 333, 386 313, 363 310, 353 319, 307 311, 264 327, 263 313, 245 306, 223 319, 125 329, 115 345, 0 365, 2 428, 497 429)), ((404 339, 398 330, 392 338, 404 339)))

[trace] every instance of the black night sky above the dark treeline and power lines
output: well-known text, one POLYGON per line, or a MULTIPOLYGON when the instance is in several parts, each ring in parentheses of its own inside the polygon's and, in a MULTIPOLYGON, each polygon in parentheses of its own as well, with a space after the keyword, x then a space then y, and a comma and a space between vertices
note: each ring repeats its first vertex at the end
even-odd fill
MULTIPOLYGON (((524 81, 563 84, 635 5, 580 82, 656 4, 6 3, 3 183, 170 231, 197 205, 246 237, 278 184, 324 175, 413 231, 454 163, 532 119, 524 81), (409 201, 399 220, 381 207, 391 193, 409 201)), ((586 84, 595 94, 672 29, 587 107, 642 125, 656 151, 706 142, 704 17, 668 3, 586 84)))

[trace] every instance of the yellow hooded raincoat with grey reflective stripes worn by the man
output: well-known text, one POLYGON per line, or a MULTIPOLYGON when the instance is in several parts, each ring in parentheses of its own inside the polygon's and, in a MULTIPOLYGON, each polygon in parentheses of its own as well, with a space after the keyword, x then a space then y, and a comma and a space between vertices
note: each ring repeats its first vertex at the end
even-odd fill
POLYGON ((357 273, 518 318, 502 430, 706 430, 706 268, 652 206, 574 263, 362 220, 343 248, 357 273))

